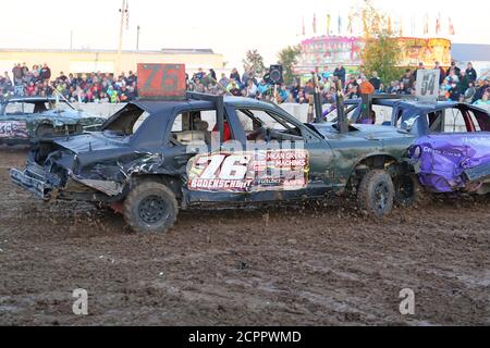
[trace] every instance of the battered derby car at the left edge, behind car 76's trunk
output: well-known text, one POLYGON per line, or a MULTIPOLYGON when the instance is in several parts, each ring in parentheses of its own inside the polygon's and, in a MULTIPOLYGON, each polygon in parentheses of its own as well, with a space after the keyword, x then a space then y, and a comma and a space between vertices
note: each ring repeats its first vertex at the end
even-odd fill
POLYGON ((0 103, 0 145, 29 145, 47 136, 98 130, 105 121, 56 97, 5 99, 0 103))

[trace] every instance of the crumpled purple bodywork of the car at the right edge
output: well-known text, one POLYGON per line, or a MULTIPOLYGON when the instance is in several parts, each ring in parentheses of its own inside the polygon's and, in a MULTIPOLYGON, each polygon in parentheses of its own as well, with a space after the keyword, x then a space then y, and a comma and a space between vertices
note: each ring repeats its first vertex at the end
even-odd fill
POLYGON ((430 135, 411 149, 420 165, 420 183, 438 192, 468 188, 465 173, 481 169, 479 178, 490 176, 490 133, 430 135))

